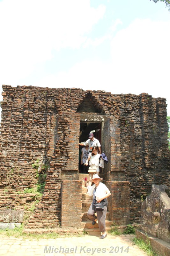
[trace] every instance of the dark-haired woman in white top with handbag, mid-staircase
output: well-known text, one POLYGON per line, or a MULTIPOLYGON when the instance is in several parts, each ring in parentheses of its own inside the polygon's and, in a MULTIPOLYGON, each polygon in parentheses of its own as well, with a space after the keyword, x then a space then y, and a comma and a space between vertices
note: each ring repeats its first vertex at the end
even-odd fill
MULTIPOLYGON (((89 154, 87 160, 86 160, 86 163, 85 165, 87 166, 88 163, 90 165, 90 167, 94 167, 95 168, 95 171, 98 175, 99 175, 99 172, 100 172, 100 169, 99 169, 99 158, 100 158, 100 154, 98 154, 98 147, 92 147, 92 153, 89 154)), ((92 179, 92 176, 93 176, 93 172, 90 172, 90 170, 88 171, 89 172, 89 186, 92 185, 92 181, 90 181, 92 179)))

